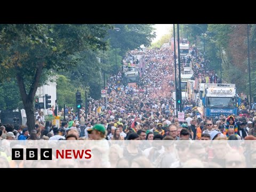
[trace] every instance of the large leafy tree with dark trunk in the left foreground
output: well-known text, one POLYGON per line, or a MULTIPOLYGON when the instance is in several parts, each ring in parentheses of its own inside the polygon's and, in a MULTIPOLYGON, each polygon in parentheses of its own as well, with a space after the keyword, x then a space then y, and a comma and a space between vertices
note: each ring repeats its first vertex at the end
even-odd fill
POLYGON ((29 131, 35 127, 33 101, 43 73, 74 67, 75 53, 102 49, 110 25, 0 25, 0 78, 17 78, 29 131))

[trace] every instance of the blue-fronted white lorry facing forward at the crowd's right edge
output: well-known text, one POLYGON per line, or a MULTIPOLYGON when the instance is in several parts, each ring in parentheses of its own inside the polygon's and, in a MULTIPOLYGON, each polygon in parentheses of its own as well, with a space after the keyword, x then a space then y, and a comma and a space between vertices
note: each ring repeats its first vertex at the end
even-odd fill
POLYGON ((198 106, 203 109, 204 116, 237 115, 241 99, 236 95, 235 84, 201 83, 199 87, 198 106))

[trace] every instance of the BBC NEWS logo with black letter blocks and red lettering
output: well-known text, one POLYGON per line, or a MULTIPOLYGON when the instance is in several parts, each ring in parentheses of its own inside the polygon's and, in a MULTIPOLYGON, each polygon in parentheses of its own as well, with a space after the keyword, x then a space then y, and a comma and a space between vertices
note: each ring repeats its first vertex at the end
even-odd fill
MULTIPOLYGON (((23 160, 24 149, 12 149, 12 160, 23 160)), ((90 159, 92 157, 91 150, 55 150, 55 157, 57 159, 90 159)), ((40 149, 40 159, 41 160, 52 160, 52 149, 44 148, 40 149)), ((27 148, 26 149, 26 160, 38 160, 38 149, 27 148)))

